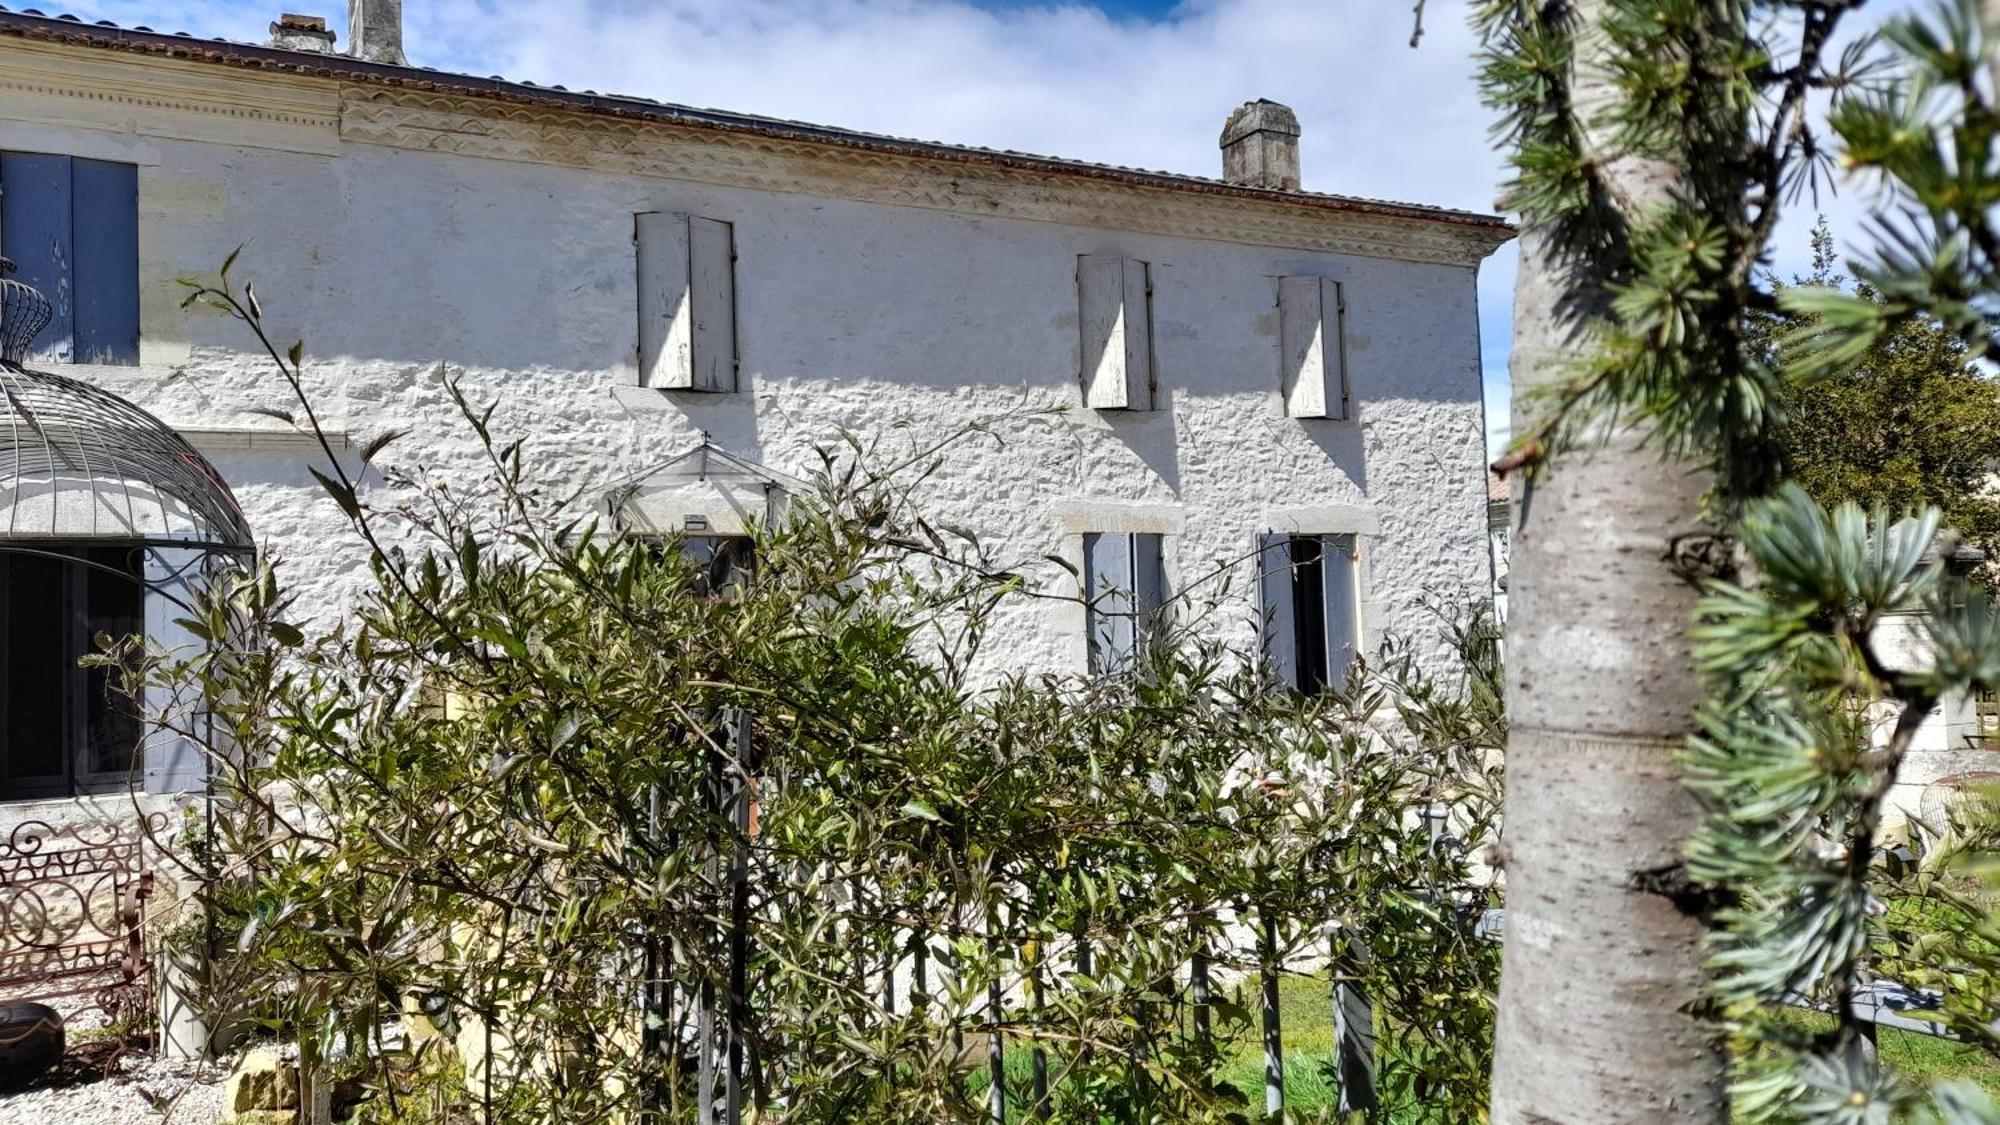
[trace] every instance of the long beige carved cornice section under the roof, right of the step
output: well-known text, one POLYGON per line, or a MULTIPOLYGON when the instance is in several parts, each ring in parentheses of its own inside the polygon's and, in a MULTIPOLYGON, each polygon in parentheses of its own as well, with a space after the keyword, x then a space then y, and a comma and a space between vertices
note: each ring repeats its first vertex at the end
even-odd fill
POLYGON ((1512 236, 1492 226, 950 164, 918 154, 382 86, 342 88, 340 136, 732 188, 1458 266, 1478 264, 1512 236))

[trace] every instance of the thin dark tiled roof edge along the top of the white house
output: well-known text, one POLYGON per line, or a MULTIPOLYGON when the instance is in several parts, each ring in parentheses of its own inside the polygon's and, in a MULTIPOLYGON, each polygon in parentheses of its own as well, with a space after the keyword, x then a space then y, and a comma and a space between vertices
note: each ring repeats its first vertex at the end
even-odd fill
POLYGON ((0 36, 22 40, 42 40, 56 44, 76 44, 106 50, 124 50, 194 62, 212 62, 244 70, 266 70, 274 74, 298 74, 336 78, 358 84, 400 86, 414 90, 436 90, 448 94, 492 98, 514 104, 560 106, 608 118, 638 118, 678 124, 716 132, 746 132, 794 142, 826 144, 836 148, 860 148, 920 156, 944 162, 982 164, 994 168, 1014 168, 1038 174, 1078 176, 1088 180, 1122 182, 1130 186, 1164 188, 1188 194, 1264 198, 1300 206, 1324 208, 1342 214, 1366 214, 1416 222, 1434 222, 1462 228, 1468 234, 1486 234, 1498 246, 1514 236, 1514 228, 1500 216, 1442 206, 1372 200, 1328 192, 1286 192, 1276 188, 1252 188, 1230 184, 1208 176, 1188 176, 1180 172, 1154 172, 1146 168, 1122 168, 1114 164, 1094 164, 1088 160, 1066 160, 1058 156, 1036 156, 1030 152, 1010 152, 996 148, 976 148, 964 144, 942 144, 934 140, 912 140, 846 128, 818 126, 798 120, 738 114, 728 110, 708 110, 630 98, 620 94, 598 94, 594 90, 566 90, 562 86, 536 86, 500 76, 478 78, 424 66, 390 66, 364 62, 344 54, 310 50, 286 50, 230 40, 206 40, 186 32, 166 34, 146 26, 124 28, 110 20, 84 22, 76 16, 46 16, 38 10, 10 10, 0 6, 0 36))

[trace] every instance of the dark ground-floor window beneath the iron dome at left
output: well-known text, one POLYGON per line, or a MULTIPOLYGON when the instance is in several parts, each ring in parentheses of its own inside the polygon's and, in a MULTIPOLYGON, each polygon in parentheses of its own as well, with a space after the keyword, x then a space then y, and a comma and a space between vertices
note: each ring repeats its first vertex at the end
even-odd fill
POLYGON ((0 552, 0 797, 120 789, 138 757, 138 709, 108 669, 80 669, 96 635, 144 633, 138 548, 0 552))

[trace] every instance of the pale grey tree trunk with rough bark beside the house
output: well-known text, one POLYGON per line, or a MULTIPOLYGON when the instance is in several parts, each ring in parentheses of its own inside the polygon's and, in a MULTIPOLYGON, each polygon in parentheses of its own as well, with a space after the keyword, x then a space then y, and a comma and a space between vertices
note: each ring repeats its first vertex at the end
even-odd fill
MULTIPOLYGON (((1582 112, 1616 96, 1578 4, 1582 112)), ((1678 168, 1600 154, 1616 204, 1642 214, 1678 168)), ((1514 290, 1514 418, 1566 378, 1578 308, 1600 278, 1522 234, 1514 290), (1562 312, 1558 312, 1562 310, 1562 312)), ((1704 923, 1666 891, 1696 805, 1674 755, 1694 717, 1696 589, 1674 538, 1698 532, 1710 476, 1664 460, 1644 430, 1596 432, 1532 492, 1514 484, 1508 591, 1506 949, 1494 1047, 1496 1125, 1726 1121, 1726 1057, 1704 997, 1704 923)))

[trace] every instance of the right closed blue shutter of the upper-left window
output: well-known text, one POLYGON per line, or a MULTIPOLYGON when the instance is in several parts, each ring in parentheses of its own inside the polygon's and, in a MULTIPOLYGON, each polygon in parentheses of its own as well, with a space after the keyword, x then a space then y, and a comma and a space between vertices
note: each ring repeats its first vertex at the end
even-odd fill
POLYGON ((74 160, 76 362, 138 362, 138 168, 74 160))

